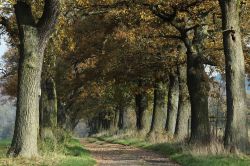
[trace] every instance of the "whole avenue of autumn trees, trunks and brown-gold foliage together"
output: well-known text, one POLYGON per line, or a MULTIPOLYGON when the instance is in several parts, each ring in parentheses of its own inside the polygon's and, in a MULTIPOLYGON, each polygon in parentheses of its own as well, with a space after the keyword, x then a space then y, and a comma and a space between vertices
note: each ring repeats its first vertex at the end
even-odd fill
POLYGON ((38 137, 53 136, 57 127, 73 130, 81 119, 91 133, 133 128, 148 137, 209 145, 209 98, 224 99, 212 88, 218 84, 209 76, 213 69, 226 81, 224 145, 246 152, 249 5, 4 2, 0 25, 10 49, 1 84, 5 94, 17 97, 8 154, 36 156, 38 137))

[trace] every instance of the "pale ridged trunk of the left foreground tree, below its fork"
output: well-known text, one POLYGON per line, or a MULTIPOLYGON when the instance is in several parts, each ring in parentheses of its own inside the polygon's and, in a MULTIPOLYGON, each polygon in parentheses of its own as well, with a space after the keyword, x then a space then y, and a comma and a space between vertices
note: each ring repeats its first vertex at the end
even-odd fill
POLYGON ((32 157, 38 153, 37 135, 43 50, 38 50, 40 43, 36 28, 23 25, 20 36, 16 123, 8 153, 12 156, 32 157))

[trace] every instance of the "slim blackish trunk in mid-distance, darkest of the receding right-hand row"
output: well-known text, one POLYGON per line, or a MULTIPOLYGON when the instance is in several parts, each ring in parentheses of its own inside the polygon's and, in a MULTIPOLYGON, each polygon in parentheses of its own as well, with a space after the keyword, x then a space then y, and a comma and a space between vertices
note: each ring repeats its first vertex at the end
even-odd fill
POLYGON ((148 107, 148 99, 147 93, 143 90, 143 82, 139 81, 138 87, 140 89, 140 93, 135 96, 135 104, 136 104, 136 128, 138 130, 144 130, 146 126, 145 122, 145 112, 148 107))

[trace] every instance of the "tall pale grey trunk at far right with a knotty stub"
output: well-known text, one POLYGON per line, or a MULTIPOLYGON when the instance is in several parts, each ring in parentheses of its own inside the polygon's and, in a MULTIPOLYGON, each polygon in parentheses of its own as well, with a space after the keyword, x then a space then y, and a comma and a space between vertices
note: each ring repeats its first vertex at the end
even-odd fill
MULTIPOLYGON (((226 63, 227 122, 224 144, 247 150, 245 64, 240 34, 240 1, 220 0, 226 63)), ((233 148, 233 149, 232 149, 233 148)))

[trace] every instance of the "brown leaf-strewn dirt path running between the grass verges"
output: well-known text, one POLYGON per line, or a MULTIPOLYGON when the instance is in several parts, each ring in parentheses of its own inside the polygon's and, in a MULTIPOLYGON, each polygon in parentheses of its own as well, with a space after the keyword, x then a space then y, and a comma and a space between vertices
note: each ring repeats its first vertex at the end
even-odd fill
POLYGON ((166 156, 130 146, 82 140, 98 166, 178 166, 166 156))

